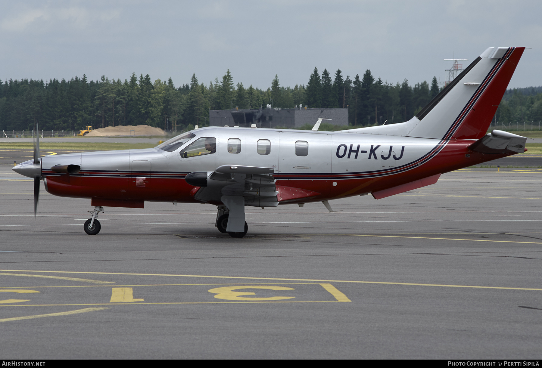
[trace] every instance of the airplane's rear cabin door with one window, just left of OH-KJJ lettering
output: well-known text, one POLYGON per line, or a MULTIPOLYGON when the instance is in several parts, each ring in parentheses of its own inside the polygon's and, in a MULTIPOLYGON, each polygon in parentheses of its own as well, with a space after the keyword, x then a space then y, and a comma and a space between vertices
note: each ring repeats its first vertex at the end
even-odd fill
POLYGON ((280 132, 279 172, 283 185, 324 196, 331 191, 331 135, 280 132))

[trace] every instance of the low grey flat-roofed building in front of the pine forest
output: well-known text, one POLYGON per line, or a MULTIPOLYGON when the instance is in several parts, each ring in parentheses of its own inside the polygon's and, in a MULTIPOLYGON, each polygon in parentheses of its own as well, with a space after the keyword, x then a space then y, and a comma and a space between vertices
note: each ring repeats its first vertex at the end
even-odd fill
POLYGON ((319 118, 328 124, 348 125, 348 108, 247 108, 231 110, 210 110, 210 126, 295 129, 305 124, 314 125, 319 118))

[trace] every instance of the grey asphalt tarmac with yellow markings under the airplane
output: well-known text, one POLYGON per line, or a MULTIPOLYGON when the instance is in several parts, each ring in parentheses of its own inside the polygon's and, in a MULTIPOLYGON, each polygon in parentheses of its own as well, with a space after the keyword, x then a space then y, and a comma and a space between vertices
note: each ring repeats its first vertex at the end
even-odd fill
POLYGON ((105 208, 0 165, 4 359, 538 359, 542 169, 465 169, 371 196, 105 208))

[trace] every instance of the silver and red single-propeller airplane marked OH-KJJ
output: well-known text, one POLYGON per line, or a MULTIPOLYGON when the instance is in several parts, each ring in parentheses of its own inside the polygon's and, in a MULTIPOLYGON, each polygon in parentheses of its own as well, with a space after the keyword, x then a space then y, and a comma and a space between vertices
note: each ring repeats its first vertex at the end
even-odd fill
MULTIPOLYGON (((376 199, 434 184, 444 173, 525 151, 526 138, 489 124, 524 47, 490 47, 409 121, 338 132, 204 127, 153 149, 39 157, 13 167, 56 196, 91 198, 84 225, 98 234, 102 206, 210 203, 222 233, 247 233, 244 206, 376 199), (90 211, 89 211, 90 212, 90 211)), ((37 128, 37 127, 36 127, 37 128)))

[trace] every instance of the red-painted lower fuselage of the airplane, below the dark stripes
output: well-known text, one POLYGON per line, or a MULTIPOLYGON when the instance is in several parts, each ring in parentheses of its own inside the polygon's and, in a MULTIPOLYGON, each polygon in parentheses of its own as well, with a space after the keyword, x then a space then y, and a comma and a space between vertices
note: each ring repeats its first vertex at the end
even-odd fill
MULTIPOLYGON (((280 179, 277 177, 276 185, 300 188, 320 193, 308 201, 300 199, 299 202, 317 202, 326 199, 356 196, 372 191, 393 188, 404 183, 410 183, 425 177, 433 176, 461 169, 486 161, 509 156, 508 153, 487 154, 473 152, 468 146, 472 140, 451 140, 444 144, 443 149, 433 158, 420 166, 410 170, 390 173, 389 175, 372 178, 341 178, 334 179, 340 173, 331 175, 311 175, 307 177, 299 174, 299 179, 280 179), (466 157, 469 155, 469 157, 466 157), (336 186, 333 182, 337 183, 336 186)), ((159 202, 186 202, 196 201, 191 190, 194 188, 184 179, 146 178, 145 186, 135 186, 135 177, 96 177, 96 176, 62 176, 47 177, 47 191, 53 195, 74 198, 104 198, 124 201, 159 201, 159 202)), ((293 202, 295 203, 295 202, 293 202)))

